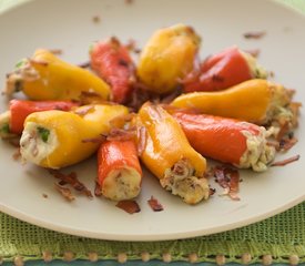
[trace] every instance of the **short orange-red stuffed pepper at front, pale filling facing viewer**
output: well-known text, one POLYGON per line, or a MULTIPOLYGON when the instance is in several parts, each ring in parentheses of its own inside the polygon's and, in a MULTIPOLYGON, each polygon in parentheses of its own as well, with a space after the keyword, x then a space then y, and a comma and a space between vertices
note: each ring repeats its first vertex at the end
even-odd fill
POLYGON ((139 195, 142 170, 133 140, 106 141, 98 152, 98 182, 102 195, 112 201, 139 195))

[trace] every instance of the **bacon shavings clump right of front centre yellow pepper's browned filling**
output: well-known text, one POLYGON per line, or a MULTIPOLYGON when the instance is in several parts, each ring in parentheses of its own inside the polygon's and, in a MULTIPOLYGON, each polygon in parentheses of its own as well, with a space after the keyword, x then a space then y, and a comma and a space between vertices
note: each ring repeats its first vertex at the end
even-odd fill
POLYGON ((240 173, 237 170, 226 167, 226 166, 216 166, 214 168, 215 182, 224 188, 223 195, 228 195, 234 201, 240 201, 237 193, 240 190, 240 173))

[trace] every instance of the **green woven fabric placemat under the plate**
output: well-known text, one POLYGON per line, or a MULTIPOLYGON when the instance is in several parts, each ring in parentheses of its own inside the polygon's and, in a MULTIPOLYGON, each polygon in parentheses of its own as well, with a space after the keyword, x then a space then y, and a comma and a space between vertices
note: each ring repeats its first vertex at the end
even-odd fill
MULTIPOLYGON (((0 11, 19 1, 0 0, 0 11)), ((305 13, 304 0, 278 1, 305 13)), ((24 260, 41 259, 43 252, 51 252, 53 259, 63 259, 65 252, 72 252, 74 259, 88 259, 91 252, 96 253, 99 259, 116 259, 120 253, 126 253, 128 259, 141 259, 143 252, 149 252, 151 259, 162 259, 164 253, 170 253, 172 260, 187 260, 190 254, 196 253, 199 262, 212 263, 216 255, 225 255, 227 263, 242 263, 243 254, 251 254, 250 263, 261 263, 264 255, 272 255, 274 263, 288 263, 289 256, 297 255, 299 263, 305 263, 305 203, 238 229, 190 239, 149 243, 65 235, 0 213, 0 262, 12 262, 16 256, 24 260)))

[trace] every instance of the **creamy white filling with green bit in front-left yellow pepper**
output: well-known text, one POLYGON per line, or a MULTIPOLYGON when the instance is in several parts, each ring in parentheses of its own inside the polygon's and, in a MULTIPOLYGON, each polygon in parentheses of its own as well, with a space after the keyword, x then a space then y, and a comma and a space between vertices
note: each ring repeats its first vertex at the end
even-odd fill
POLYGON ((23 160, 39 165, 43 160, 48 160, 58 145, 54 130, 28 122, 20 139, 20 153, 23 160), (43 135, 41 129, 44 129, 48 135, 43 135))

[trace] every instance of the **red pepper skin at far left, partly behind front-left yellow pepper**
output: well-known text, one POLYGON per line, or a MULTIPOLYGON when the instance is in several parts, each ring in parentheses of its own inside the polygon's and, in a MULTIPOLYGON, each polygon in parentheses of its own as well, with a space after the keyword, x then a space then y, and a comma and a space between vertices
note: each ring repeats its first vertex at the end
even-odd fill
POLYGON ((70 111, 78 106, 75 102, 71 101, 26 101, 11 100, 10 101, 10 132, 21 135, 23 131, 23 123, 27 116, 34 112, 47 110, 70 111))

